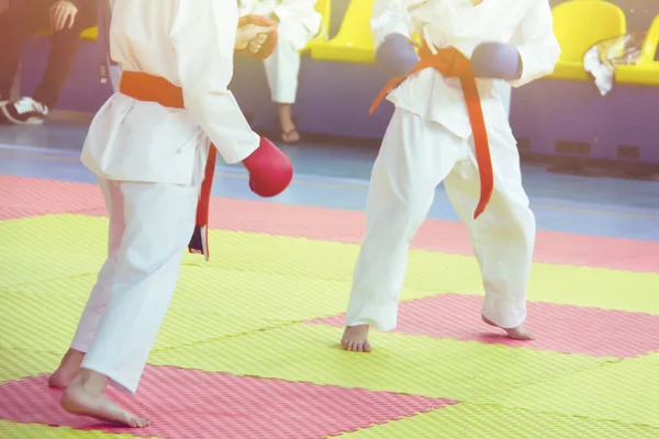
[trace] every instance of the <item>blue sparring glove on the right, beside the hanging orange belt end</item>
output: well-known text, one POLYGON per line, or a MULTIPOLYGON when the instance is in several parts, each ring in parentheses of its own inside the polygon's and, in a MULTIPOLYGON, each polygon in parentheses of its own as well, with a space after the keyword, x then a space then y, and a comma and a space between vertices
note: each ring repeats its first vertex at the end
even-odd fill
POLYGON ((522 76, 520 50, 512 44, 482 43, 471 54, 477 78, 515 80, 522 76))

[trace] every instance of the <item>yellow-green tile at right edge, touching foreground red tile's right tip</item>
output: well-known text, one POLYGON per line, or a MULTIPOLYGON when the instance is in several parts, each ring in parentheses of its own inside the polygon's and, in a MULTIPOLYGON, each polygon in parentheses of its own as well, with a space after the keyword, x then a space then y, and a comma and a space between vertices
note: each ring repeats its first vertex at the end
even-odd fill
POLYGON ((470 402, 659 428, 659 365, 625 360, 470 402))

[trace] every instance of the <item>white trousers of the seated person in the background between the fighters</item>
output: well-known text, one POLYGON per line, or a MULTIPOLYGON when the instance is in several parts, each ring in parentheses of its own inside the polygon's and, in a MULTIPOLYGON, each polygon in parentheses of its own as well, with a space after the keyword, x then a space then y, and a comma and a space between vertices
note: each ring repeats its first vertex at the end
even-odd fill
POLYGON ((277 47, 264 60, 272 102, 292 104, 298 93, 300 50, 311 38, 309 30, 294 20, 277 26, 277 47))

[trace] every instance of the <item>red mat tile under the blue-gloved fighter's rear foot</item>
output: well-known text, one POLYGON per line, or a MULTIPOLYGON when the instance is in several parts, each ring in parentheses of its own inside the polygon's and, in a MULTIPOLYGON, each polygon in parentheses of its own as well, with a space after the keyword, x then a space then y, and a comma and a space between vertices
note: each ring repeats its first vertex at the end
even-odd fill
MULTIPOLYGON (((481 297, 459 294, 403 302, 394 331, 594 357, 628 358, 659 350, 656 315, 532 302, 525 326, 537 339, 517 341, 480 320, 481 304, 481 297)), ((343 327, 344 318, 310 323, 343 327)))

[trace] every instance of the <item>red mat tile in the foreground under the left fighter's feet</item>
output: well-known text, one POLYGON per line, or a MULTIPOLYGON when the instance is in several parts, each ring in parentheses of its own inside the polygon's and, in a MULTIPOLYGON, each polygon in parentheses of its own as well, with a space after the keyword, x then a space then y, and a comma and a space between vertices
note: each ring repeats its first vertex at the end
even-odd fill
POLYGON ((108 392, 126 409, 150 416, 149 427, 124 429, 65 413, 58 405, 60 392, 48 389, 46 382, 42 375, 0 384, 0 419, 137 437, 290 439, 335 436, 457 404, 360 389, 148 367, 137 397, 108 392))

